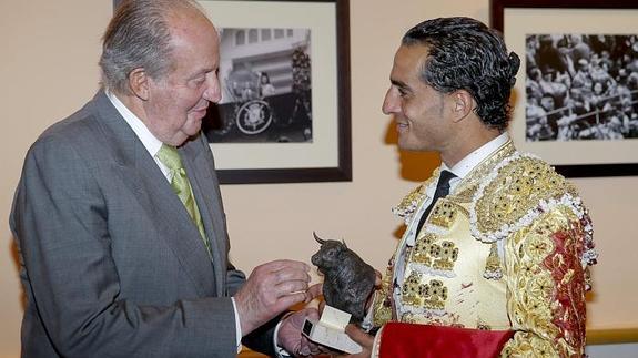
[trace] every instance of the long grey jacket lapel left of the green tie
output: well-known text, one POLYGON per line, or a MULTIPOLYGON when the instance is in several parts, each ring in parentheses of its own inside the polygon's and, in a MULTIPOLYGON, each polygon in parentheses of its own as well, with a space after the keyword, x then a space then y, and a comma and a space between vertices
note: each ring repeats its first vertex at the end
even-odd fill
POLYGON ((107 95, 100 92, 94 102, 99 112, 98 120, 109 136, 107 145, 111 145, 114 152, 126 186, 135 193, 145 209, 144 214, 155 223, 159 237, 171 247, 200 295, 219 295, 211 260, 184 205, 107 95))

